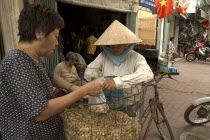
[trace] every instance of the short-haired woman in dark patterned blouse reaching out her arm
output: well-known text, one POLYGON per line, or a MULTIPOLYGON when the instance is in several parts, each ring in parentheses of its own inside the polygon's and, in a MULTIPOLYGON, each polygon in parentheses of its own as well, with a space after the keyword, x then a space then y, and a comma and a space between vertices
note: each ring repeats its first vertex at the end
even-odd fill
POLYGON ((86 95, 96 96, 101 84, 78 88, 52 72, 39 59, 58 45, 62 17, 34 4, 25 7, 18 20, 19 44, 0 64, 0 128, 3 140, 64 139, 59 112, 86 95), (54 98, 53 86, 73 92, 54 98))

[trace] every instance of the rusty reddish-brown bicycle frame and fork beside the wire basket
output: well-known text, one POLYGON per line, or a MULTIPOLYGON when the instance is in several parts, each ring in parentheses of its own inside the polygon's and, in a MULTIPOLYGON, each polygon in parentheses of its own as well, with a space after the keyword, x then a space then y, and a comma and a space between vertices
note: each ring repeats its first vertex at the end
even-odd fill
POLYGON ((156 114, 157 106, 158 106, 158 104, 160 104, 159 93, 158 93, 158 90, 157 90, 157 83, 152 83, 152 85, 149 85, 149 86, 153 86, 154 87, 154 90, 155 90, 154 94, 155 94, 155 96, 149 100, 149 105, 146 107, 146 109, 143 112, 143 116, 142 117, 143 117, 143 119, 145 118, 145 120, 143 120, 142 126, 146 122, 146 120, 148 119, 149 114, 151 113, 151 116, 149 118, 149 122, 147 124, 146 131, 145 131, 145 133, 143 135, 143 140, 146 140, 146 138, 148 136, 148 133, 149 133, 149 130, 150 130, 153 118, 154 118, 154 116, 156 114))

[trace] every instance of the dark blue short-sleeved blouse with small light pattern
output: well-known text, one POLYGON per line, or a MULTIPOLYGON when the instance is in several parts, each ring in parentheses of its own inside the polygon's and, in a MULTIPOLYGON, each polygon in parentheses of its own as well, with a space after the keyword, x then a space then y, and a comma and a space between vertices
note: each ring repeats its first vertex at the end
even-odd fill
POLYGON ((53 98, 53 74, 40 61, 12 50, 0 64, 0 130, 5 140, 61 140, 63 127, 55 115, 36 121, 53 98))

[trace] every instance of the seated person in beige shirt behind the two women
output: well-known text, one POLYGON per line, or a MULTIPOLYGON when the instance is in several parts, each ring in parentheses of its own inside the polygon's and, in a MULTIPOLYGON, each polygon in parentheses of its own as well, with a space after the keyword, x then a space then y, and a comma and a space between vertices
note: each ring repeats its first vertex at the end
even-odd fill
POLYGON ((68 52, 65 56, 65 60, 55 67, 54 74, 62 77, 70 83, 80 80, 76 67, 74 66, 77 59, 78 57, 76 53, 68 52))

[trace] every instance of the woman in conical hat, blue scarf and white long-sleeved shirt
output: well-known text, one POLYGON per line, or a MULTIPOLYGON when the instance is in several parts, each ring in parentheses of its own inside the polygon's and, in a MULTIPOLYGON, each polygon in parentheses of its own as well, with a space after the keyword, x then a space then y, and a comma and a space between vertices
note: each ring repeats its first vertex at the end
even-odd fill
POLYGON ((135 43, 141 41, 115 20, 95 42, 94 45, 101 46, 103 51, 88 65, 85 79, 91 81, 97 77, 109 77, 103 84, 108 90, 129 88, 151 80, 153 73, 145 58, 133 50, 135 43))

